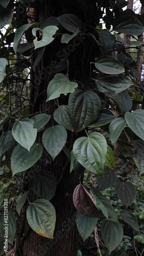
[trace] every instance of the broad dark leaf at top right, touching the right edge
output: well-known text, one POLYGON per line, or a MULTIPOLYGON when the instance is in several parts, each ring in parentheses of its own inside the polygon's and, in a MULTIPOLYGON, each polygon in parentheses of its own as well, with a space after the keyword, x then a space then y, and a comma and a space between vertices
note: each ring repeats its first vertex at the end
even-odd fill
POLYGON ((113 25, 113 30, 129 35, 141 35, 144 31, 139 20, 132 15, 126 15, 118 18, 113 25))

